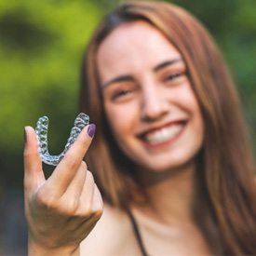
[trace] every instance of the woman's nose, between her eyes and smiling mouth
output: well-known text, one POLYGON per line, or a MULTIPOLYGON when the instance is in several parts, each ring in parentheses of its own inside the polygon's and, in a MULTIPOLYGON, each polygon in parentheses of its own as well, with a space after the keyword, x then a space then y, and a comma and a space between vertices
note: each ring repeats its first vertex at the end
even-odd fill
POLYGON ((141 119, 154 121, 168 113, 168 101, 157 88, 147 88, 142 93, 141 119))

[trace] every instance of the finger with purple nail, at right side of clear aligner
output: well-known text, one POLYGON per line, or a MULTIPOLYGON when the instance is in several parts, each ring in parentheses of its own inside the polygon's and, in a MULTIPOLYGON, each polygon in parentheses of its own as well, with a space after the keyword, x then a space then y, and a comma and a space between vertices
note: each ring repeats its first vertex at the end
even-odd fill
POLYGON ((80 167, 88 151, 95 130, 96 126, 94 124, 90 124, 82 129, 77 140, 74 141, 74 144, 48 179, 48 185, 53 184, 55 189, 59 190, 59 193, 65 191, 66 187, 73 180, 76 170, 80 167))

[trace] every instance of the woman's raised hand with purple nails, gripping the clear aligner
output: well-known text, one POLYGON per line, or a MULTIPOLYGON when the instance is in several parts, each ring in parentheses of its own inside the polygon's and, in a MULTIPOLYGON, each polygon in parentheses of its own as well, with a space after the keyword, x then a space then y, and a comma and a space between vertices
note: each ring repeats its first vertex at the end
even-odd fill
POLYGON ((37 153, 34 128, 25 128, 25 213, 29 254, 33 256, 79 254, 80 242, 101 218, 101 194, 83 161, 93 126, 81 131, 47 180, 37 153))

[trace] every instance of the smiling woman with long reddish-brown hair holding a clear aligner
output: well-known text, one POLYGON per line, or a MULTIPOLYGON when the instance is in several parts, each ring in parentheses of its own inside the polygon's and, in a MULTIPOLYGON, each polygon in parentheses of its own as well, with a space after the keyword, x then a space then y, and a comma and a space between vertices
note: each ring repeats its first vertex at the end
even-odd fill
POLYGON ((26 128, 31 254, 79 254, 83 239, 82 255, 256 254, 244 120, 203 26, 169 4, 121 5, 82 74, 81 109, 98 128, 88 153, 93 125, 45 181, 26 128))

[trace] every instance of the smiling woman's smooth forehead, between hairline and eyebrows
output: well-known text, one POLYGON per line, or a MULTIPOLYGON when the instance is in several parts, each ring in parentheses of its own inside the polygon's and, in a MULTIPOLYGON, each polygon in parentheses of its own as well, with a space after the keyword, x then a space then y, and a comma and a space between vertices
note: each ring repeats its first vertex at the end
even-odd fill
POLYGON ((103 70, 154 67, 162 61, 177 59, 180 52, 164 34, 145 21, 134 21, 117 27, 101 43, 97 54, 103 70))

